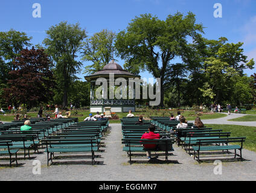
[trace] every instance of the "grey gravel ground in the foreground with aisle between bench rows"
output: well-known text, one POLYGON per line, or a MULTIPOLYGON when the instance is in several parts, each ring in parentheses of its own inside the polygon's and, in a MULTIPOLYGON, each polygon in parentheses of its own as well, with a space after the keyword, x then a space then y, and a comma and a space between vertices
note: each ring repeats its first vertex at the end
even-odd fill
MULTIPOLYGON (((233 157, 233 154, 222 154, 216 157, 211 154, 211 162, 197 163, 181 147, 174 145, 172 155, 168 156, 169 162, 165 163, 164 156, 159 156, 155 162, 146 159, 146 154, 133 157, 136 163, 130 165, 126 153, 122 151, 121 144, 121 124, 110 124, 110 133, 103 140, 105 147, 103 152, 97 155, 97 164, 92 166, 89 157, 77 155, 72 159, 71 154, 65 157, 60 154, 62 159, 54 159, 54 164, 47 167, 46 154, 33 154, 34 159, 19 160, 22 163, 19 167, 0 168, 0 180, 102 180, 102 181, 158 181, 158 180, 256 180, 256 153, 243 150, 245 160, 239 162, 235 159, 222 160, 223 158, 233 157), (67 159, 69 158, 69 159, 67 159), (78 158, 78 159, 77 159, 78 158), (41 174, 33 174, 33 161, 40 160, 41 174), (213 160, 222 160, 222 174, 214 174, 213 160), (85 162, 87 160, 87 162, 85 162)), ((40 150, 43 152, 43 150, 40 150)), ((57 156, 57 154, 56 154, 57 156)), ((0 161, 2 164, 3 161, 0 161)), ((8 164, 8 161, 5 162, 8 164)), ((1 166, 0 166, 1 167, 1 166)))

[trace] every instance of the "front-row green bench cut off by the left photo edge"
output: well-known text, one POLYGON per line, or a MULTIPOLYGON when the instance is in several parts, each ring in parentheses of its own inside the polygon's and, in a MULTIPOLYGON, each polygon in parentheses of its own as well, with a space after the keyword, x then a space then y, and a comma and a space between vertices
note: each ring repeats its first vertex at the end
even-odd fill
POLYGON ((16 164, 18 165, 17 153, 19 151, 19 148, 13 148, 13 142, 11 142, 10 140, 0 141, 0 149, 7 149, 7 150, 0 150, 0 154, 1 155, 8 154, 10 156, 10 167, 11 167, 11 163, 13 162, 13 160, 11 159, 11 156, 13 154, 15 154, 16 164))

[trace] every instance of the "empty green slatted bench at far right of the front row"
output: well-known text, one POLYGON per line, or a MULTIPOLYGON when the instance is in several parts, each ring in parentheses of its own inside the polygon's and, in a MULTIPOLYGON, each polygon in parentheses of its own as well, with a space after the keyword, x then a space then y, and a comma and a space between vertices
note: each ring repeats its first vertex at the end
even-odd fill
MULTIPOLYGON (((200 151, 228 151, 235 150, 235 156, 239 156, 242 161, 242 148, 243 142, 245 142, 245 137, 240 138, 221 138, 221 139, 197 139, 198 145, 193 146, 194 150, 194 159, 197 157, 197 161, 200 163, 200 151), (229 145, 229 143, 241 143, 241 145, 229 145), (212 145, 212 144, 225 144, 225 145, 212 145), (240 155, 237 154, 236 150, 240 150, 240 155), (196 156, 197 151, 197 156, 196 156)), ((229 153, 229 151, 228 151, 229 153)))

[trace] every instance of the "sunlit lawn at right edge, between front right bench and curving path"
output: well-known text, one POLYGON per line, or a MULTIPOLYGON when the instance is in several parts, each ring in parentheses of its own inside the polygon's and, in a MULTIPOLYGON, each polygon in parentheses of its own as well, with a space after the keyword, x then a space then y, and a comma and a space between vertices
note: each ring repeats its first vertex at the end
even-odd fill
POLYGON ((206 124, 206 127, 222 129, 223 132, 231 132, 231 137, 246 137, 243 147, 247 150, 256 151, 256 127, 217 124, 206 124))

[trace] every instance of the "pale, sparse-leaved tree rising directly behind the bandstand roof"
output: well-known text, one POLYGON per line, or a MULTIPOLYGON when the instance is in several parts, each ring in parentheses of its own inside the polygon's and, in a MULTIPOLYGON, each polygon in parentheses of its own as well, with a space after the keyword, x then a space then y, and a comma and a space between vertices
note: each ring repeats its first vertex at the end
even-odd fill
POLYGON ((85 73, 97 72, 113 59, 114 39, 114 32, 102 30, 86 40, 83 48, 83 60, 92 62, 92 65, 86 66, 85 73))

